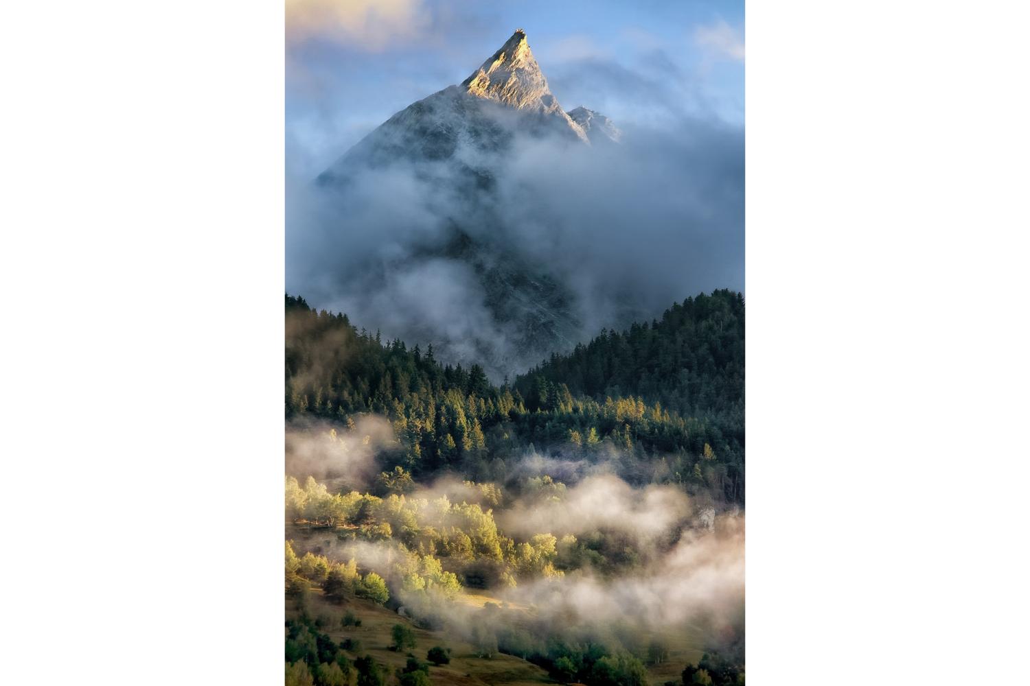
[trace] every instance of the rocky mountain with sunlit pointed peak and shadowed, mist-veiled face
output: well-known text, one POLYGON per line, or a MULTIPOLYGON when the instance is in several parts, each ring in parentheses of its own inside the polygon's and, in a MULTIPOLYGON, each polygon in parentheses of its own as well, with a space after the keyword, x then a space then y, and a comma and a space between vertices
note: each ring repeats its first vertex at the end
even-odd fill
MULTIPOLYGON (((417 198, 397 202, 417 206, 418 216, 408 221, 419 227, 378 262, 329 275, 347 294, 340 306, 370 293, 377 310, 388 310, 408 300, 419 288, 415 280, 424 278, 426 297, 442 287, 450 305, 471 313, 468 321, 437 321, 432 305, 411 312, 406 304, 398 304, 404 317, 366 321, 389 336, 434 344, 442 360, 479 362, 494 380, 582 339, 581 305, 568 275, 537 266, 504 210, 517 186, 508 168, 527 147, 545 150, 546 161, 591 146, 591 136, 606 145, 618 140, 607 117, 582 107, 573 114, 558 104, 518 30, 459 85, 413 103, 347 151, 317 178, 333 212, 344 218, 359 213, 371 194, 403 175, 409 183, 414 179, 417 198)), ((376 230, 378 219, 350 230, 376 230)), ((384 233, 396 236, 396 229, 384 233)))

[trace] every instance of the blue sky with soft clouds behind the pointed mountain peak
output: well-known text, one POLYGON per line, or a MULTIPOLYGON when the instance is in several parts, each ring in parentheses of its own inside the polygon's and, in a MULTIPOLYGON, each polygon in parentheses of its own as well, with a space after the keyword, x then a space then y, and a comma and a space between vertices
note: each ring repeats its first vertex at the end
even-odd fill
POLYGON ((287 171, 311 177, 524 29, 551 89, 620 127, 744 125, 744 3, 288 0, 287 171))

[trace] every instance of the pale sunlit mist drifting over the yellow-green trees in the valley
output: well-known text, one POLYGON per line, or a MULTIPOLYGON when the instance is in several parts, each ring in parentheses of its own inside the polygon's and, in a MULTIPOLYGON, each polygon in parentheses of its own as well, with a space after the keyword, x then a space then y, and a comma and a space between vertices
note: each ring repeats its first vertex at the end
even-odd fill
MULTIPOLYGON (((305 478, 304 470, 310 469, 335 478, 337 484, 348 484, 344 489, 359 489, 357 484, 371 482, 385 464, 377 456, 390 449, 391 439, 389 424, 374 416, 360 418, 353 429, 339 434, 321 425, 294 427, 287 432, 287 471, 305 478)), ((470 641, 484 626, 504 631, 537 625, 559 634, 615 636, 620 641, 631 640, 634 631, 675 636, 688 624, 703 625, 710 637, 740 634, 745 592, 743 512, 730 508, 715 514, 707 500, 695 500, 679 488, 634 486, 612 471, 580 472, 570 485, 555 479, 546 481, 544 490, 534 489, 533 480, 540 483, 540 477, 528 474, 550 472, 548 467, 560 467, 563 461, 530 455, 523 462, 534 468, 516 469, 522 476, 514 490, 445 474, 416 484, 403 502, 427 527, 449 526, 450 503, 478 503, 484 511, 493 510, 499 533, 517 544, 551 534, 560 539, 560 550, 575 539, 615 536, 618 545, 636 550, 636 564, 616 573, 586 565, 524 579, 513 587, 500 585, 485 591, 501 604, 491 610, 405 590, 404 574, 417 565, 418 555, 398 540, 364 539, 352 531, 341 537, 316 535, 306 545, 314 544, 315 551, 335 562, 355 559, 362 573, 376 572, 390 582, 394 603, 408 613, 470 641)), ((303 549, 302 541, 299 552, 303 549)), ((445 570, 460 574, 460 564, 455 567, 449 558, 441 559, 445 570)))

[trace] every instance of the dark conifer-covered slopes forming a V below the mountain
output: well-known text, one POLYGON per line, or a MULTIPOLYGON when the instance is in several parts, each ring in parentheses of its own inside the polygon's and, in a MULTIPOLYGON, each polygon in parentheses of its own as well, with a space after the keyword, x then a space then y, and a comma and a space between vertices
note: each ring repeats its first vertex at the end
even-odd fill
POLYGON ((603 332, 514 385, 482 367, 440 364, 346 315, 286 296, 286 416, 352 423, 385 417, 383 466, 416 477, 451 470, 504 482, 526 455, 597 461, 618 454, 631 483, 675 482, 744 502, 744 299, 716 291, 651 324, 603 332))

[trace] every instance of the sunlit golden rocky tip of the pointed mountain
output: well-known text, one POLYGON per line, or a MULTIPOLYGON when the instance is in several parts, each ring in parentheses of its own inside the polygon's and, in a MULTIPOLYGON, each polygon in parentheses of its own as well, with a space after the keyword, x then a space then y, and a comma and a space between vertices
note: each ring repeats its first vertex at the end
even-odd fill
POLYGON ((518 109, 552 111, 557 102, 533 57, 525 31, 516 29, 501 49, 461 81, 470 95, 518 109))

